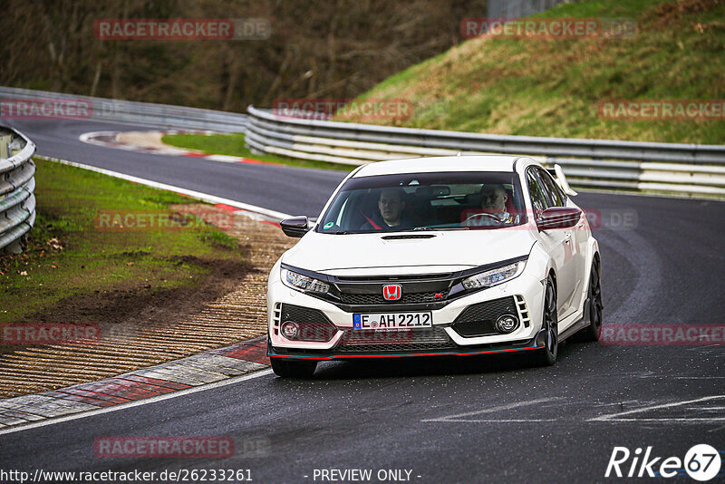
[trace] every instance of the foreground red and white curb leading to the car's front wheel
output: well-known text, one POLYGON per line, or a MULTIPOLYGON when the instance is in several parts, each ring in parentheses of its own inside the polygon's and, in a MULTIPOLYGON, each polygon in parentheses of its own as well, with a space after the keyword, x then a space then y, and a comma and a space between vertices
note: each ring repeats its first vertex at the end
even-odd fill
POLYGON ((221 382, 267 366, 263 336, 100 382, 0 400, 0 431, 221 382))

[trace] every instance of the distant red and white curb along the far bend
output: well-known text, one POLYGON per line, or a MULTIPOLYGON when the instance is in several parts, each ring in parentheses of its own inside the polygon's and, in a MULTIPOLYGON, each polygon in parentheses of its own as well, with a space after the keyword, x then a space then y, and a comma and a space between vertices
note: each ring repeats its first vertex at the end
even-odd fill
MULTIPOLYGON (((189 158, 198 158, 200 160, 209 161, 221 161, 222 163, 247 163, 252 165, 274 165, 269 161, 252 160, 250 158, 243 158, 238 156, 230 155, 209 155, 200 151, 184 150, 183 148, 175 148, 173 146, 147 146, 142 144, 136 144, 131 142, 123 142, 119 140, 119 134, 122 131, 92 131, 83 133, 78 137, 84 143, 94 144, 97 146, 104 146, 106 148, 115 148, 118 150, 137 151, 140 153, 150 153, 154 155, 167 155, 167 156, 182 156, 189 158)), ((179 130, 168 130, 168 131, 152 131, 160 132, 161 134, 216 134, 217 131, 179 131, 179 130)))

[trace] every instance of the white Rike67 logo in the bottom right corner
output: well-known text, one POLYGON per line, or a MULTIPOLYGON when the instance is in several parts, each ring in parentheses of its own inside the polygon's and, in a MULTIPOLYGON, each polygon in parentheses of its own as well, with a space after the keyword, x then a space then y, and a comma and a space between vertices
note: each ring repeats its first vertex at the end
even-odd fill
POLYGON ((604 477, 669 479, 690 476, 704 482, 718 476, 720 466, 720 452, 708 444, 693 446, 684 459, 656 457, 652 446, 644 451, 638 447, 633 452, 626 447, 614 447, 604 477))

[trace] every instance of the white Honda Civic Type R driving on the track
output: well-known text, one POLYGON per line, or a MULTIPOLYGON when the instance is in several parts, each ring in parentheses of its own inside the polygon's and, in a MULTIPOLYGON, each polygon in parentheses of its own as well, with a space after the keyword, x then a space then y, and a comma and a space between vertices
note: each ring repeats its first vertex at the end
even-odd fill
POLYGON ((277 375, 324 360, 528 353, 601 332, 599 247, 557 166, 517 156, 382 161, 343 180, 267 288, 277 375))

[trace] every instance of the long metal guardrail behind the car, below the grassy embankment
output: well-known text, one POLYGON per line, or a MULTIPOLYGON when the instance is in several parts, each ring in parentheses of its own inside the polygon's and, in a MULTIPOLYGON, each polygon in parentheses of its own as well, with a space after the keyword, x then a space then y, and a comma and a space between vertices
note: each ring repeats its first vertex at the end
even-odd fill
POLYGON ((725 195, 725 146, 417 130, 275 116, 247 109, 247 147, 361 165, 422 156, 506 153, 559 164, 573 186, 725 195))

